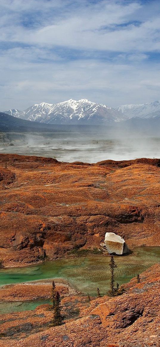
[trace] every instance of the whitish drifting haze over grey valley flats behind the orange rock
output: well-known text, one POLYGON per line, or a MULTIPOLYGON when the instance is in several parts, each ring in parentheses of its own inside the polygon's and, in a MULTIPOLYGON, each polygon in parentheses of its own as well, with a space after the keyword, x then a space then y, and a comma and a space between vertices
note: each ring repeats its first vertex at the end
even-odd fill
POLYGON ((95 163, 102 160, 130 160, 136 158, 159 158, 160 138, 136 132, 119 131, 119 128, 75 128, 74 131, 24 134, 23 139, 0 143, 1 153, 40 155, 59 161, 82 161, 95 163), (83 130, 83 131, 82 131, 83 130))

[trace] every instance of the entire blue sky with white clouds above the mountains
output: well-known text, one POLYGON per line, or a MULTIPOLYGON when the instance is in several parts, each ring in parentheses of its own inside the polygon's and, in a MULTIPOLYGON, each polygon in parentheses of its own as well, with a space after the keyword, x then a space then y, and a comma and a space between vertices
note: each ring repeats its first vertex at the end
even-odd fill
POLYGON ((160 100, 160 1, 0 0, 0 111, 160 100))

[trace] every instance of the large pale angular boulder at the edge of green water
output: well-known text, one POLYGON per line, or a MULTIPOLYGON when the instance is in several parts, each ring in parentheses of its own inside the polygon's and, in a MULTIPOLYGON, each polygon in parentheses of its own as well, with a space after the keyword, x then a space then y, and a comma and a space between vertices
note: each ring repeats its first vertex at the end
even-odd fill
POLYGON ((106 232, 104 242, 109 254, 122 255, 129 253, 125 240, 114 232, 106 232))

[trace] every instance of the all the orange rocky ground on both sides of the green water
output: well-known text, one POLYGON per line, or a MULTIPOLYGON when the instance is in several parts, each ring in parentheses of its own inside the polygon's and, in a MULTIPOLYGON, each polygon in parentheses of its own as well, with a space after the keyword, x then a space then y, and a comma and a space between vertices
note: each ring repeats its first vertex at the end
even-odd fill
MULTIPOLYGON (((0 155, 1 266, 99 252, 106 232, 130 249, 160 246, 160 160, 60 163, 0 155)), ((102 251, 103 252, 103 251, 102 251)), ((0 347, 160 346, 160 265, 125 284, 125 293, 89 298, 56 283, 64 324, 51 327, 50 305, 0 315, 0 347)), ((49 299, 51 282, 1 288, 0 300, 49 299)))

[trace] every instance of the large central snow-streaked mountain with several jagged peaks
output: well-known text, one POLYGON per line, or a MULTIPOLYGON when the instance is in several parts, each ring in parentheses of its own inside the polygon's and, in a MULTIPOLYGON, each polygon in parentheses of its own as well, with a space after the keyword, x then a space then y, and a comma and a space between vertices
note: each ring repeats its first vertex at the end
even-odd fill
POLYGON ((48 124, 105 124, 127 119, 125 114, 109 106, 86 99, 68 100, 57 104, 42 102, 25 111, 7 110, 5 113, 26 120, 48 124))

